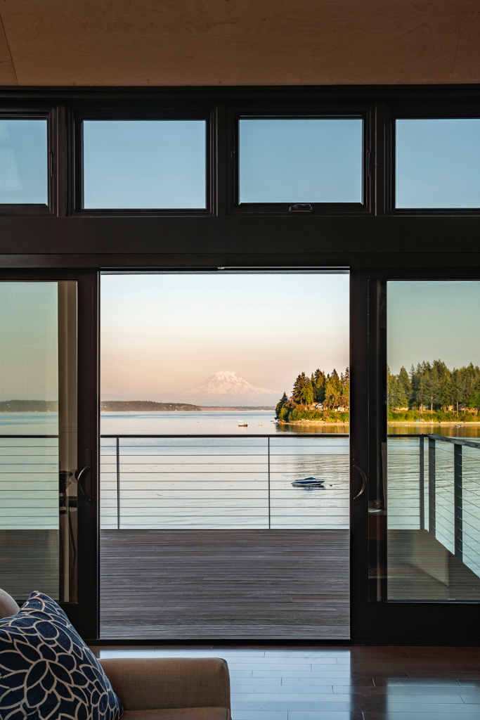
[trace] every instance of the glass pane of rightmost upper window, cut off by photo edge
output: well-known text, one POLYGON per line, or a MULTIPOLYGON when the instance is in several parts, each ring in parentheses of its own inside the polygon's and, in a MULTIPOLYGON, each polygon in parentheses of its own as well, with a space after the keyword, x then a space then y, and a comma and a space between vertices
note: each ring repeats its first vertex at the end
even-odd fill
POLYGON ((480 119, 397 120, 396 207, 480 207, 480 119))

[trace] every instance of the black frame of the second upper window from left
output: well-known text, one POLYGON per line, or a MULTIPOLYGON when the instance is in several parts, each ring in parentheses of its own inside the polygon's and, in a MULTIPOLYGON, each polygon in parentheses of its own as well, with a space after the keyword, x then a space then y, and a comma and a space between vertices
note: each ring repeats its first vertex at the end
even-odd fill
POLYGON ((216 126, 212 104, 142 104, 142 109, 130 104, 99 104, 96 107, 76 102, 71 112, 71 157, 73 168, 68 189, 71 215, 99 216, 204 216, 214 215, 217 199, 214 192, 217 176, 216 126), (205 207, 204 208, 88 208, 83 207, 83 121, 84 120, 204 120, 205 121, 205 207))

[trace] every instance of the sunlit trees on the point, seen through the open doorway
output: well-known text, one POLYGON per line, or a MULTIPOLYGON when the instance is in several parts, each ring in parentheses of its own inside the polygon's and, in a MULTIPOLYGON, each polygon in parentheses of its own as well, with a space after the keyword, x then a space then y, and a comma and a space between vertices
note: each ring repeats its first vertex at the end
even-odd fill
POLYGON ((276 418, 315 419, 322 417, 323 411, 337 408, 345 408, 347 413, 350 408, 350 370, 345 369, 339 376, 335 368, 332 374, 325 374, 317 368, 310 377, 305 372, 296 377, 291 395, 284 392, 276 406, 276 418), (312 407, 314 404, 322 405, 323 410, 312 407))

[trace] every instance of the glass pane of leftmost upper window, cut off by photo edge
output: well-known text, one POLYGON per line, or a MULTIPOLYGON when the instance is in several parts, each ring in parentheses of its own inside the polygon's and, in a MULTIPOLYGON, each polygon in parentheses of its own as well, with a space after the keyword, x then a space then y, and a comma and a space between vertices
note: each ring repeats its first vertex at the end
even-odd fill
POLYGON ((0 120, 0 203, 47 204, 47 121, 0 120))

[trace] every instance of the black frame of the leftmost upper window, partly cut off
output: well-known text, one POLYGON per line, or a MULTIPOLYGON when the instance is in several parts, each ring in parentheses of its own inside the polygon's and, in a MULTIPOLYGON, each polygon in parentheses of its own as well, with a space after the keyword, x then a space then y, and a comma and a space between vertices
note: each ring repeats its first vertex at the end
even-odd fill
MULTIPOLYGON (((47 202, 0 203, 0 216, 8 215, 57 215, 60 203, 58 197, 58 176, 61 158, 58 152, 59 123, 58 108, 42 104, 3 104, 0 120, 46 120, 47 121, 47 202), (59 162, 60 161, 60 162, 59 162)), ((61 131, 60 131, 61 133, 61 131)))

